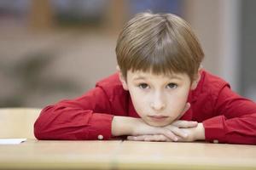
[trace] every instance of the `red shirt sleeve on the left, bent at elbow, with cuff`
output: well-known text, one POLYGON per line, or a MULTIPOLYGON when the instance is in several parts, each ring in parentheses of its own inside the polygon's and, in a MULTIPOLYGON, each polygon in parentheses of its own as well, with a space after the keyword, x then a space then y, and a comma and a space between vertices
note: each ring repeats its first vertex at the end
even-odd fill
POLYGON ((41 111, 34 123, 37 139, 110 139, 113 115, 100 87, 82 97, 62 100, 41 111))

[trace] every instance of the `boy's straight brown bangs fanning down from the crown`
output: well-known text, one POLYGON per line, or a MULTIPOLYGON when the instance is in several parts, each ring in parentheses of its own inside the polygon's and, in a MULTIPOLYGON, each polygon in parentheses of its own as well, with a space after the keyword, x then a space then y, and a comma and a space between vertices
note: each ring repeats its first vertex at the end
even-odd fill
POLYGON ((148 43, 145 43, 133 54, 133 57, 129 58, 126 69, 152 72, 156 75, 187 72, 193 74, 195 64, 192 63, 191 57, 189 59, 190 54, 185 54, 182 48, 175 38, 168 35, 167 27, 164 27, 158 32, 158 36, 148 40, 148 43))

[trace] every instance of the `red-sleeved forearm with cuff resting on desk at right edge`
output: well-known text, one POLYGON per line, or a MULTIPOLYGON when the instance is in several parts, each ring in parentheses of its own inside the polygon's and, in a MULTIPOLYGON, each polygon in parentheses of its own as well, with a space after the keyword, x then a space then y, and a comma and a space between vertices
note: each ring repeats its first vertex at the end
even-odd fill
POLYGON ((256 144, 256 113, 227 119, 215 116, 203 122, 206 140, 228 144, 256 144))

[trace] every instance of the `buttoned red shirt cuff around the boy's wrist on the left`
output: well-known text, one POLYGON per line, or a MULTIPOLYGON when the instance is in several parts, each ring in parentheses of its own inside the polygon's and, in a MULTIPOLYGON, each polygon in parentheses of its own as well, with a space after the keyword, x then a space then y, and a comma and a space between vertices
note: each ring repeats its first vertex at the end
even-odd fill
POLYGON ((113 115, 94 113, 90 118, 87 139, 108 140, 112 137, 113 115))

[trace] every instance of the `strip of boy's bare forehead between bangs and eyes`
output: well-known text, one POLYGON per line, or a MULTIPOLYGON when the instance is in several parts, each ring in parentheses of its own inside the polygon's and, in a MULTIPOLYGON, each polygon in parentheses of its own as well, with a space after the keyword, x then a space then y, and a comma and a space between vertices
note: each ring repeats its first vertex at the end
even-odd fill
POLYGON ((127 71, 127 78, 130 80, 170 80, 170 79, 177 79, 177 80, 187 80, 189 76, 185 73, 172 73, 172 74, 154 74, 152 72, 145 72, 145 71, 127 71))

